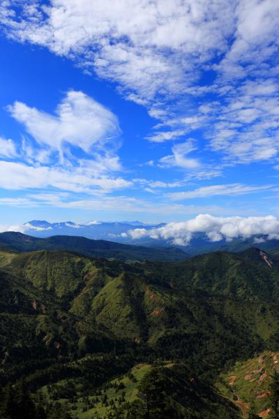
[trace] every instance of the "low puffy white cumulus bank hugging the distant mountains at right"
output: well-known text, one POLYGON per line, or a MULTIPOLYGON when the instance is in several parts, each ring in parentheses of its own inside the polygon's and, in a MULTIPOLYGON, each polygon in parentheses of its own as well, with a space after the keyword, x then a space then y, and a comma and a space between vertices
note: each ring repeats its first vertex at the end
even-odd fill
POLYGON ((204 233, 212 242, 222 239, 230 241, 237 237, 248 238, 253 235, 264 235, 267 240, 279 239, 279 219, 271 215, 217 217, 199 214, 194 219, 181 223, 168 223, 151 230, 137 228, 128 232, 133 239, 151 237, 185 246, 190 243, 195 233, 204 233))

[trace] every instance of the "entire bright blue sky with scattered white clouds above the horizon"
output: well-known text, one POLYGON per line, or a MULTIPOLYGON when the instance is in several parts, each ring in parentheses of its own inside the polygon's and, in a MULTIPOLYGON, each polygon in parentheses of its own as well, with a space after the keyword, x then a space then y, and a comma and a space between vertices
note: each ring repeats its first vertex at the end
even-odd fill
POLYGON ((278 1, 1 0, 0 22, 2 229, 277 219, 278 1))

